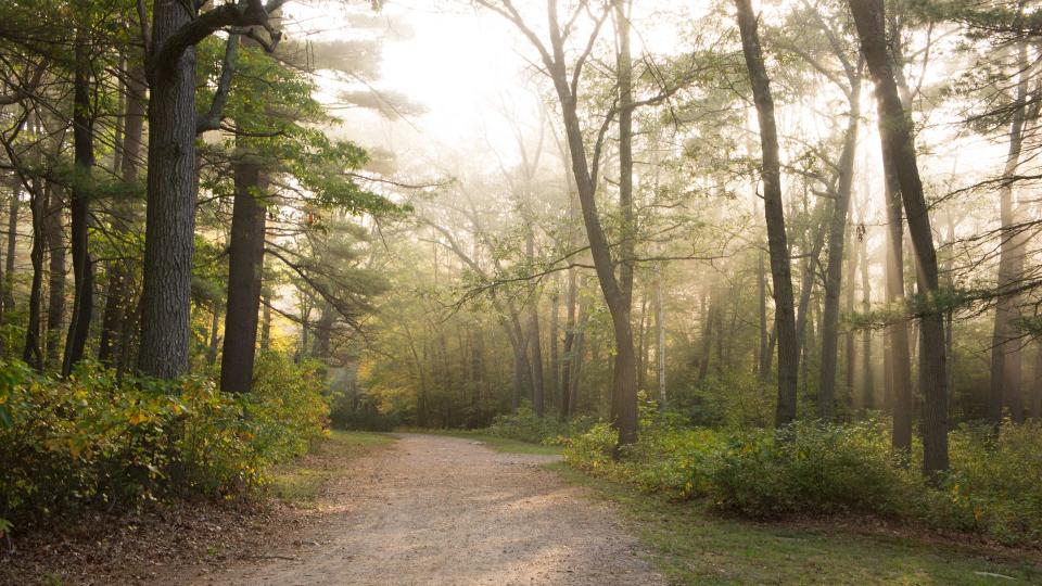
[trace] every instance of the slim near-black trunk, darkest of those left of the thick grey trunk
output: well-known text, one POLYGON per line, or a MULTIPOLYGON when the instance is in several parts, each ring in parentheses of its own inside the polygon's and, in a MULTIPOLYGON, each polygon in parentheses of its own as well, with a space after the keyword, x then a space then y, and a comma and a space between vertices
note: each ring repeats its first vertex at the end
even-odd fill
POLYGON ((76 33, 76 73, 73 84, 73 143, 76 178, 69 192, 72 219, 71 244, 73 254, 73 313, 65 336, 65 357, 62 377, 68 377, 76 362, 84 358, 90 318, 94 309, 94 268, 88 250, 90 222, 90 176, 94 166, 94 114, 90 103, 91 67, 86 35, 76 33))

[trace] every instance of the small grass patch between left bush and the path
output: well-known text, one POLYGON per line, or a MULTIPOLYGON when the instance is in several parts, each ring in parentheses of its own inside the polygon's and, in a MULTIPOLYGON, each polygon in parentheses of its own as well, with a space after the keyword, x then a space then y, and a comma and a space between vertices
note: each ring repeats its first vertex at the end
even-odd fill
POLYGON ((309 506, 322 487, 342 472, 330 462, 345 461, 394 442, 383 433, 334 430, 307 456, 279 467, 271 477, 271 494, 287 502, 309 506))

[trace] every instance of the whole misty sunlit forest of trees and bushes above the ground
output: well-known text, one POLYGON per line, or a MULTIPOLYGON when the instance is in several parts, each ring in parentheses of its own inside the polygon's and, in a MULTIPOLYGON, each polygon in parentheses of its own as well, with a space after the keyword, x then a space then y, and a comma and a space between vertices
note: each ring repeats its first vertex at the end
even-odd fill
POLYGON ((1042 581, 1042 2, 7 0, 0 146, 5 561, 425 433, 1042 581))

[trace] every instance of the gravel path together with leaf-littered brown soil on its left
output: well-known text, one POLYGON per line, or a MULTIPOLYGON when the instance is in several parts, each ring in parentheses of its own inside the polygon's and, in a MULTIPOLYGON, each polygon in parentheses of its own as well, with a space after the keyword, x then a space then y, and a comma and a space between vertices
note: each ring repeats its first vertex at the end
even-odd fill
MULTIPOLYGON (((0 553, 0 584, 664 584, 611 506, 473 440, 403 434, 314 502, 92 513, 0 553)), ((7 549, 7 548, 3 548, 7 549)))

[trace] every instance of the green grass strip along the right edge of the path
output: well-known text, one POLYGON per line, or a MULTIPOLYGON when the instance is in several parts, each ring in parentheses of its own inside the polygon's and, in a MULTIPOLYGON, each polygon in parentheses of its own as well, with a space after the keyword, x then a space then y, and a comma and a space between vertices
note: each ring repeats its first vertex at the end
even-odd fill
MULTIPOLYGON (((697 502, 671 502, 551 464, 568 482, 618 502, 652 561, 675 584, 1042 584, 1042 565, 1014 552, 929 536, 755 523, 697 502)), ((1022 553, 1022 552, 1021 552, 1022 553)))

